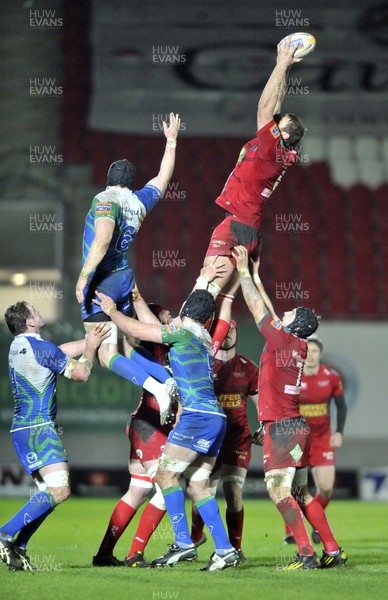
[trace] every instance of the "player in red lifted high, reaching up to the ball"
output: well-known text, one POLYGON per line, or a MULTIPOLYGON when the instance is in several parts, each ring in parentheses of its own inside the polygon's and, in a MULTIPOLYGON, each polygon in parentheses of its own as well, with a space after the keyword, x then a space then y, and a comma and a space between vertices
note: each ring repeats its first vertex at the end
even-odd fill
POLYGON ((294 58, 295 51, 295 46, 290 48, 290 40, 278 46, 276 66, 258 104, 256 137, 242 148, 235 168, 216 199, 226 216, 213 231, 204 265, 216 259, 217 264, 224 265, 226 273, 208 287, 214 297, 218 296, 219 305, 218 319, 212 331, 213 354, 229 329, 230 319, 223 314, 223 304, 233 301, 240 284, 232 248, 243 245, 252 258, 259 256, 259 230, 264 207, 287 167, 296 162, 295 146, 305 132, 296 115, 280 114, 289 70, 302 60, 294 58))

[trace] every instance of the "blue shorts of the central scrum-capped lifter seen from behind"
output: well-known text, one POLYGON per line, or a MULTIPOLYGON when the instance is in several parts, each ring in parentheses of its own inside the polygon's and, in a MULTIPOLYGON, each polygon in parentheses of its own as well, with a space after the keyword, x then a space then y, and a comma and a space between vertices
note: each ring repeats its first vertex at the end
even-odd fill
POLYGON ((166 441, 213 457, 218 456, 225 431, 224 415, 183 409, 175 429, 169 433, 166 441))

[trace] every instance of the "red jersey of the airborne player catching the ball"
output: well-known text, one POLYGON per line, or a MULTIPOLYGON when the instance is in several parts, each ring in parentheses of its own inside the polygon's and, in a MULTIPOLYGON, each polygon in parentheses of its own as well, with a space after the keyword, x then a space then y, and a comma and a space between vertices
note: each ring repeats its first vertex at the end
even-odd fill
POLYGON ((279 185, 288 166, 297 158, 295 150, 280 144, 279 127, 274 119, 256 132, 242 148, 216 203, 239 221, 260 228, 264 206, 279 185))

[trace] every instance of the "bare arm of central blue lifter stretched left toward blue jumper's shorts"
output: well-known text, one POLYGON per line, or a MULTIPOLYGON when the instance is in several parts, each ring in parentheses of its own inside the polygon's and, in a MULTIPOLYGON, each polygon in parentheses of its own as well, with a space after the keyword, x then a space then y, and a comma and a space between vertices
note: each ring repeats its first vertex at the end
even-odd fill
POLYGON ((131 317, 126 317, 117 310, 116 304, 112 298, 106 296, 102 292, 96 292, 98 300, 94 299, 93 302, 101 307, 108 317, 110 317, 113 323, 116 323, 117 327, 121 329, 127 335, 133 335, 134 337, 143 340, 144 342, 157 342, 162 343, 162 330, 161 325, 149 325, 148 323, 141 323, 131 317))

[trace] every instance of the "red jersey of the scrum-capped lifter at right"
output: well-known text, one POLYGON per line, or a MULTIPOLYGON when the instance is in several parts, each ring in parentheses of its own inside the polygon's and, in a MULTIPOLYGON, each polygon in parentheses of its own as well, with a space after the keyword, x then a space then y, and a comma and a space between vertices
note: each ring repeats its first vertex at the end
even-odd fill
POLYGON ((258 323, 258 327, 267 340, 260 359, 259 420, 298 417, 307 340, 287 333, 280 321, 274 321, 269 315, 258 323))

